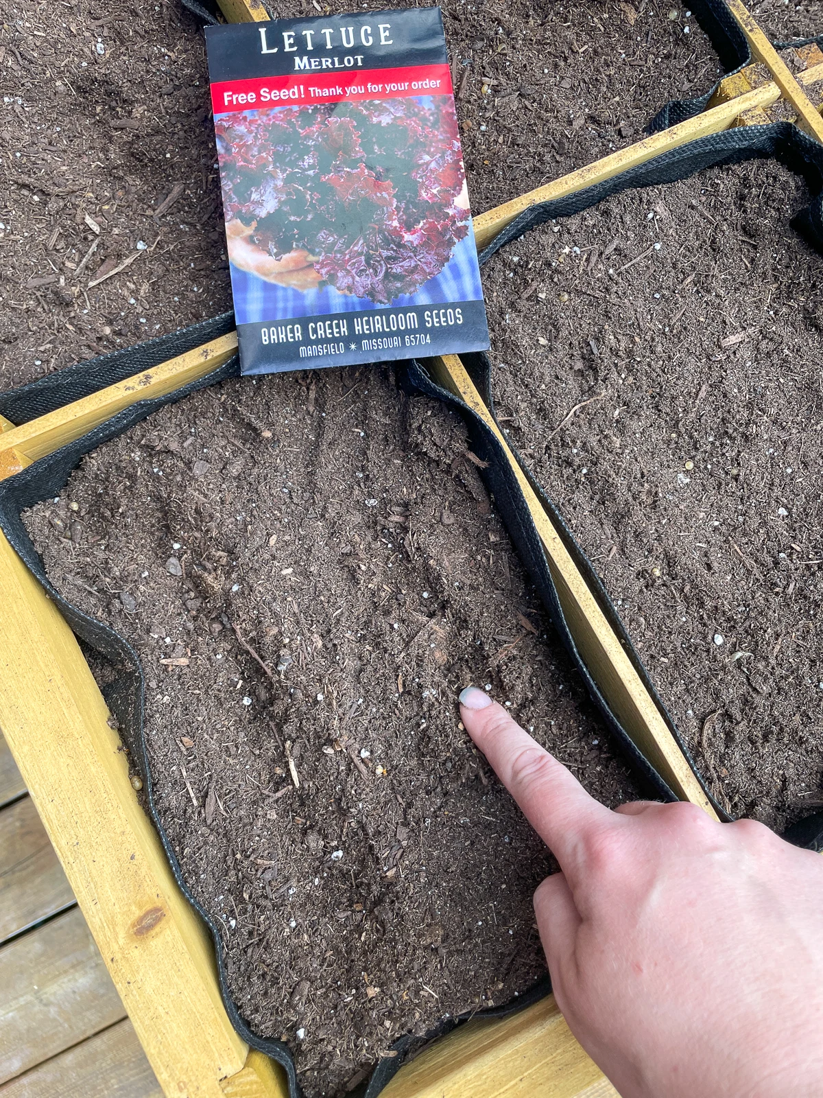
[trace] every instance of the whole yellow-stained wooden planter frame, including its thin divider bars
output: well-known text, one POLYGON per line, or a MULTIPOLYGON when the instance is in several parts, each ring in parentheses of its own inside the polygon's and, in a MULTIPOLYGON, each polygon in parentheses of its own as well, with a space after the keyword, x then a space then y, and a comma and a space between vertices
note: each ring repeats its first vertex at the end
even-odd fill
MULTIPOLYGON (((519 213, 572 193, 670 148, 742 122, 767 122, 778 101, 808 132, 823 126, 804 87, 786 69, 739 0, 726 0, 773 80, 743 70, 720 86, 710 110, 475 219, 485 246, 519 213), (747 79, 746 72, 753 77, 747 79)), ((221 0, 230 20, 266 16, 259 0, 221 0)), ((234 333, 30 424, 0 417, 0 478, 79 437, 134 401, 161 395, 225 362, 234 333)), ((666 722, 585 579, 456 357, 432 374, 495 432, 523 491, 580 653, 641 750, 684 799, 711 811, 666 722)), ((178 889, 159 840, 128 781, 105 703, 68 625, 0 535, 0 728, 31 791, 82 912, 164 1091, 174 1098, 285 1098, 282 1072, 249 1051, 221 1002, 211 940, 178 889)), ((512 1095, 606 1098, 616 1091, 574 1041, 553 998, 511 1018, 475 1020, 404 1067, 386 1098, 512 1095), (511 1080, 517 1079, 514 1084, 511 1080)))

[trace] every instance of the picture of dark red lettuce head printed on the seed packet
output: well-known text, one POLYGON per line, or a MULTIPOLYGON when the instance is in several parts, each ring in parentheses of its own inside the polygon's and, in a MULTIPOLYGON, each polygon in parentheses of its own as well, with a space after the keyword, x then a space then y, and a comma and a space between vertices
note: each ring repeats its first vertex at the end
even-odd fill
POLYGON ((215 128, 229 258, 269 282, 388 304, 469 232, 450 96, 241 111, 215 128))

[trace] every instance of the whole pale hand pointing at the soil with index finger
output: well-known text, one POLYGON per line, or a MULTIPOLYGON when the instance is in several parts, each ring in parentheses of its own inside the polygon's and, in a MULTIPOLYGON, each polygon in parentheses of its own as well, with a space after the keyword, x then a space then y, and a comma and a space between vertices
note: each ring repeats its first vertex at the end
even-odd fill
POLYGON ((469 735, 552 850, 554 995, 622 1098, 823 1095, 823 858, 688 804, 612 811, 482 691, 469 735))

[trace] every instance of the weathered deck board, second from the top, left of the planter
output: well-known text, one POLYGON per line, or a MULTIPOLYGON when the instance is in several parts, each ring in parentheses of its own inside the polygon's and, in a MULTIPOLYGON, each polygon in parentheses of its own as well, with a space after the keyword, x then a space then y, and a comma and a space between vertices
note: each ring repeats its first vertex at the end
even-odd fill
POLYGON ((31 797, 0 810, 0 943, 74 901, 31 797))

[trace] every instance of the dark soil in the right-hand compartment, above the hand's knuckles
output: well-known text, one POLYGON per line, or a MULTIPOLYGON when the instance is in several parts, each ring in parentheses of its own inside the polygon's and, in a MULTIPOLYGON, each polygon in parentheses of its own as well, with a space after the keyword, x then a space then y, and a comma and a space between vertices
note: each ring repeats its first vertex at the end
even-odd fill
POLYGON ((484 270, 497 412, 714 793, 823 803, 823 258, 770 163, 625 192, 484 270))

